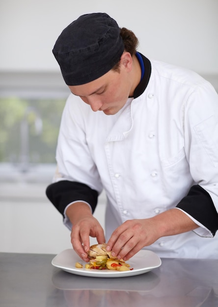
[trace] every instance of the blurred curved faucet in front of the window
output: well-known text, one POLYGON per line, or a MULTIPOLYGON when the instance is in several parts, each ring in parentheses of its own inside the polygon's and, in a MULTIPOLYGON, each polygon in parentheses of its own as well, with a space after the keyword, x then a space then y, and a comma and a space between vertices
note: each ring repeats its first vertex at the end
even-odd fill
POLYGON ((33 113, 35 115, 34 125, 35 125, 35 133, 36 135, 40 135, 42 132, 42 119, 39 116, 36 108, 32 106, 28 106, 24 118, 21 122, 21 152, 20 152, 20 171, 22 173, 26 173, 29 169, 29 123, 28 123, 28 115, 33 113))

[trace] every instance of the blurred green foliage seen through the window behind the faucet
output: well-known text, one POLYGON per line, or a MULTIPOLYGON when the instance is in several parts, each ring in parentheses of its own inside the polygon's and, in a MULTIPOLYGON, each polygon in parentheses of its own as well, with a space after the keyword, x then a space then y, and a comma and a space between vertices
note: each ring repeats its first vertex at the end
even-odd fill
POLYGON ((28 162, 55 163, 55 149, 64 104, 65 99, 30 101, 13 97, 0 98, 0 162, 21 162, 24 151, 21 127, 25 121, 28 127, 28 162), (37 127, 40 123, 42 129, 37 127))

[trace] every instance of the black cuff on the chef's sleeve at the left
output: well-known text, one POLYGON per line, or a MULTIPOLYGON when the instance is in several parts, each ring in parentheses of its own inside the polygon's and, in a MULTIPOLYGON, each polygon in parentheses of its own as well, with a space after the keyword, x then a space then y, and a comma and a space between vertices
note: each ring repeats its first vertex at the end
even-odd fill
POLYGON ((57 210, 64 216, 64 209, 75 201, 88 203, 94 212, 98 201, 98 192, 84 183, 61 180, 50 184, 46 195, 57 210))

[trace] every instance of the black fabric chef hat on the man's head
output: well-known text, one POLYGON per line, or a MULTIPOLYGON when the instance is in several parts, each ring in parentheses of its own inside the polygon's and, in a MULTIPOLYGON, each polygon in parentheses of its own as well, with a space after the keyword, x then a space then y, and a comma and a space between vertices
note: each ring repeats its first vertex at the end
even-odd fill
POLYGON ((80 16, 62 31, 53 49, 67 85, 103 76, 119 62, 123 51, 120 28, 106 13, 80 16))

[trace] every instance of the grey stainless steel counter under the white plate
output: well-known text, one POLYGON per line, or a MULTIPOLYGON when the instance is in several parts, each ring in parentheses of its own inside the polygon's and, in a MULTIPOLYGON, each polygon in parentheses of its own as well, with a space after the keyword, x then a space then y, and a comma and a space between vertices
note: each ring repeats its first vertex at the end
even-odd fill
POLYGON ((73 275, 54 255, 0 253, 0 307, 218 307, 218 260, 164 259, 122 278, 73 275))

